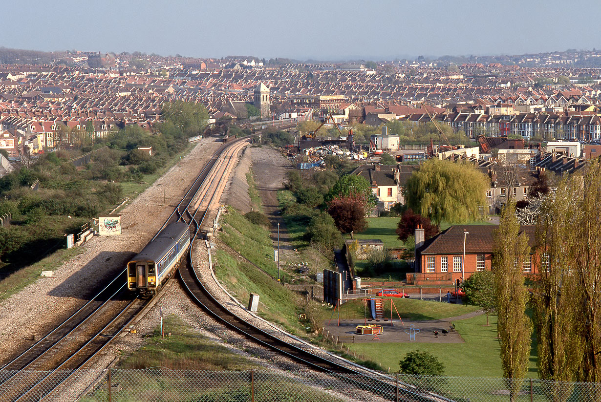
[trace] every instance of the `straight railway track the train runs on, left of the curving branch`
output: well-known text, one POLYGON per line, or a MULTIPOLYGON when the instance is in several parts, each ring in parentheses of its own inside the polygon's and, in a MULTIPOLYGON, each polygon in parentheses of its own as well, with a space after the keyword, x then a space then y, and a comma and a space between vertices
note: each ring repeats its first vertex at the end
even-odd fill
MULTIPOLYGON (((238 141, 220 147, 210 157, 162 228, 174 220, 186 223, 194 220, 195 213, 190 212, 193 199, 206 184, 220 156, 238 141)), ((216 180, 216 175, 210 180, 216 180)), ((2 367, 5 375, 0 379, 0 401, 43 400, 123 332, 150 302, 132 297, 126 284, 123 270, 63 323, 5 364, 2 367)))

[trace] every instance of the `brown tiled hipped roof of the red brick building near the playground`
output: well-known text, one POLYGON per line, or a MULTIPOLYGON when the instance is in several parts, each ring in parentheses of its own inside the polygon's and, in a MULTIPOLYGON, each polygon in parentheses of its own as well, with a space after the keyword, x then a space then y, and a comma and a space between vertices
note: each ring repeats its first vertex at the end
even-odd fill
MULTIPOLYGON (((427 240, 419 248, 420 254, 463 254, 463 231, 469 234, 465 237, 466 254, 492 254, 494 248, 496 225, 454 225, 442 233, 427 240)), ((528 245, 535 245, 534 225, 520 226, 520 233, 528 235, 528 245)))

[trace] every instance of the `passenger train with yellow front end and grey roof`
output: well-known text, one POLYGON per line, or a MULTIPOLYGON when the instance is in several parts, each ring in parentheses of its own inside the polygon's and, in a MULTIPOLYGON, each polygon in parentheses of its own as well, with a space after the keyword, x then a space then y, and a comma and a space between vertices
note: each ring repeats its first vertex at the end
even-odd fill
POLYGON ((167 225, 138 255, 127 263, 127 288, 140 296, 152 296, 175 273, 190 245, 189 226, 167 225))

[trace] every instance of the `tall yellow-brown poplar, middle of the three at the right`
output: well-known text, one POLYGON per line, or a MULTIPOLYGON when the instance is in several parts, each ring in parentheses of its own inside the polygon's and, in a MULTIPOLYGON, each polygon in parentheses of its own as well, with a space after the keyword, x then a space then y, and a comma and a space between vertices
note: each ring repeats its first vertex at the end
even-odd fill
POLYGON ((537 225, 538 280, 532 294, 534 327, 538 340, 538 374, 551 381, 546 390, 551 401, 572 394, 566 382, 576 379, 581 366, 580 300, 582 292, 573 259, 573 186, 563 180, 554 196, 541 207, 537 225))

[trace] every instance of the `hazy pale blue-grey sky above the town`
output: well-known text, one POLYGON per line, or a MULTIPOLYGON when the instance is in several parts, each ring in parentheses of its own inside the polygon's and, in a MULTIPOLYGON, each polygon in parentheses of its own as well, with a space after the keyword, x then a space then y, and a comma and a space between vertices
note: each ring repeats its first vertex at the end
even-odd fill
POLYGON ((391 60, 601 49, 599 1, 20 0, 0 46, 391 60), (590 20, 589 17, 593 17, 590 20))

